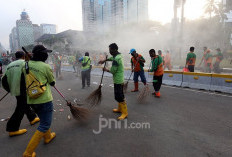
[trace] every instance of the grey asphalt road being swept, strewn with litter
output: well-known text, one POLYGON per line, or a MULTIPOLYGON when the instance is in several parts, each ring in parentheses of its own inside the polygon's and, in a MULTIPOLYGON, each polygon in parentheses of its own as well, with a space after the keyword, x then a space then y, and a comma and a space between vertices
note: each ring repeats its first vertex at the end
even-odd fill
MULTIPOLYGON (((93 77, 91 87, 81 89, 80 79, 70 72, 57 81, 57 87, 69 100, 83 103, 98 87, 96 82, 99 81, 99 77, 93 77)), ((114 119, 119 114, 112 112, 117 106, 112 79, 104 78, 103 82, 102 103, 91 109, 91 116, 84 124, 72 117, 68 119, 71 115, 69 108, 53 89, 55 111, 51 129, 57 137, 48 145, 41 141, 36 149, 38 157, 232 156, 231 95, 162 86, 161 98, 149 95, 147 101, 140 104, 137 93, 128 92, 129 117, 126 122, 128 127, 134 124, 137 128, 125 128, 123 122, 121 128, 116 128, 114 119), (95 134, 93 130, 99 130, 99 121, 104 126, 107 122, 112 123, 95 134), (141 128, 142 124, 150 127, 141 128)), ((129 83, 128 89, 132 89, 132 85, 129 83)), ((140 84, 140 89, 142 87, 140 84)), ((0 97, 4 93, 0 89, 0 97)), ((83 107, 89 106, 84 104, 83 107)), ((7 96, 0 102, 0 119, 11 116, 14 108, 15 98, 7 96)), ((8 137, 5 126, 6 121, 0 121, 0 156, 22 156, 38 124, 30 126, 25 116, 20 128, 26 128, 28 132, 17 137, 8 137)))

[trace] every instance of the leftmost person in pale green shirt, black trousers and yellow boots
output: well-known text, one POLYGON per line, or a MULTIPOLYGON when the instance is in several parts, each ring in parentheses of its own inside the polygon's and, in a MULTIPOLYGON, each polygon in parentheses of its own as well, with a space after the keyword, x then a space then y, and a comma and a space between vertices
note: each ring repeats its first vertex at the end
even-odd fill
POLYGON ((22 71, 25 65, 25 53, 17 51, 15 57, 16 61, 7 66, 2 77, 3 88, 7 92, 10 92, 12 96, 15 96, 17 100, 15 111, 6 125, 6 131, 9 132, 9 136, 21 135, 27 132, 26 129, 19 130, 24 114, 27 115, 27 119, 31 125, 39 122, 39 118, 27 104, 25 77, 22 71))

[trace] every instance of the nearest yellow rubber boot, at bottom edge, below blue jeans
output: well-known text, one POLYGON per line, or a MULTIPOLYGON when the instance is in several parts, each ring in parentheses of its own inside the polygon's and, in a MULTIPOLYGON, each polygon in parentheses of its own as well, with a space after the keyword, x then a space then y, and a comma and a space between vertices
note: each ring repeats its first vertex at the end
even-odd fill
POLYGON ((43 137, 44 133, 36 130, 35 134, 32 136, 30 142, 28 143, 25 152, 23 153, 23 157, 35 157, 36 154, 34 151, 43 137))

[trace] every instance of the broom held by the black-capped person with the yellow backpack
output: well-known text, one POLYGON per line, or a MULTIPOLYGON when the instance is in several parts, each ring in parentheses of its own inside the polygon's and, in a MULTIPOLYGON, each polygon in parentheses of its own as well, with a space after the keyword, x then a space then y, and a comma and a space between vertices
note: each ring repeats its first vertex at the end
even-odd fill
POLYGON ((86 120, 88 118, 88 115, 89 115, 88 109, 80 108, 80 107, 72 105, 71 102, 69 102, 55 86, 54 86, 54 88, 60 94, 60 96, 66 101, 67 106, 69 106, 70 111, 71 111, 74 119, 83 121, 83 120, 86 120))

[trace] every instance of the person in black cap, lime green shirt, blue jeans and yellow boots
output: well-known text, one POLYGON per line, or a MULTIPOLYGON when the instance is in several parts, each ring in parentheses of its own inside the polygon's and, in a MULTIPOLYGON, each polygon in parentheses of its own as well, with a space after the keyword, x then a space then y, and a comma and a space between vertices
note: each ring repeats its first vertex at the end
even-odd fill
MULTIPOLYGON (((38 114, 40 124, 28 143, 23 157, 35 157, 36 154, 34 151, 40 140, 44 138, 44 143, 49 143, 56 136, 56 134, 54 132, 51 133, 50 130, 53 112, 53 97, 50 86, 55 85, 55 79, 50 65, 45 63, 48 58, 48 52, 52 52, 52 50, 46 49, 43 45, 36 45, 32 50, 33 57, 28 62, 30 72, 39 82, 45 85, 46 90, 38 98, 31 98, 27 94, 27 103, 30 104, 38 114)), ((26 77, 26 69, 23 71, 26 77)))

